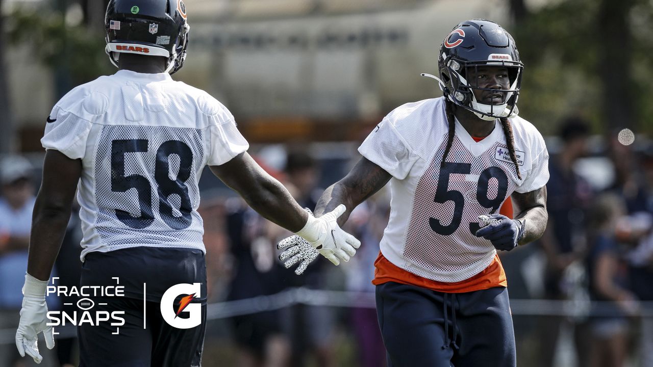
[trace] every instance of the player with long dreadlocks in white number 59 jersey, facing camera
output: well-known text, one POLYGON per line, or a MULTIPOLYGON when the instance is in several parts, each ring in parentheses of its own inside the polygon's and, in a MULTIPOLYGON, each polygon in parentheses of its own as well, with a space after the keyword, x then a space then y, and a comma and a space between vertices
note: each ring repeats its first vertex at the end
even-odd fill
MULTIPOLYGON (((517 116, 523 65, 500 25, 456 25, 438 68, 439 76, 426 75, 438 79, 444 96, 390 112, 315 214, 345 204, 343 225, 390 182, 390 219, 373 281, 389 366, 515 366, 496 251, 544 232, 549 154, 537 129, 517 116), (510 197, 515 219, 498 213, 510 197)), ((291 237, 281 246, 293 241, 301 242, 291 237)))

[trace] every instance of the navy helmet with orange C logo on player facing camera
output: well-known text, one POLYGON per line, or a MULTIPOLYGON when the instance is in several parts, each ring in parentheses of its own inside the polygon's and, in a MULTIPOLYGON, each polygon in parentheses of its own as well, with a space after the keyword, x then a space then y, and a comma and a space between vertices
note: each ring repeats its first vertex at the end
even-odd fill
POLYGON ((473 19, 462 22, 445 37, 439 50, 439 82, 445 98, 470 110, 483 120, 517 116, 517 98, 524 64, 513 37, 501 25, 489 20, 473 19), (508 70, 508 89, 479 88, 470 83, 481 65, 500 66, 508 70), (468 74, 471 74, 468 75, 468 74), (505 96, 502 103, 483 104, 477 101, 473 89, 499 91, 505 96))

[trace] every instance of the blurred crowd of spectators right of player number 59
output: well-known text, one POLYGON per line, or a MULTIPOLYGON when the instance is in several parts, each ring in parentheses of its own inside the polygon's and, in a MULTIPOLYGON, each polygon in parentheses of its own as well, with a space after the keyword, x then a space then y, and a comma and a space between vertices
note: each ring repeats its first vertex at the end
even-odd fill
POLYGON ((580 118, 558 138, 547 231, 502 260, 511 298, 567 302, 515 316, 518 364, 560 366, 564 350, 579 367, 653 366, 653 318, 641 307, 653 300, 653 147, 617 133, 590 147, 580 118))

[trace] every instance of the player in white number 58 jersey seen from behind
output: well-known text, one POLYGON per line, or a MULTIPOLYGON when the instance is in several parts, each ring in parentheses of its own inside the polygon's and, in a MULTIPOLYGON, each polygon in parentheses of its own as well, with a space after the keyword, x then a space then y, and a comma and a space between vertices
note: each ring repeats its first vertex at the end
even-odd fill
POLYGON ((84 232, 80 283, 116 285, 118 277, 125 287, 123 297, 93 298, 93 311, 125 311, 125 325, 118 334, 109 323, 78 326, 80 366, 200 365, 206 268, 197 208, 206 165, 257 212, 319 246, 332 263, 347 261, 360 245, 336 224, 344 206, 320 218, 303 210, 247 154, 225 106, 170 78, 186 57, 186 18, 182 0, 110 0, 106 53, 119 71, 72 89, 48 116, 16 332, 23 356, 42 360, 40 332, 54 346, 44 296, 76 189, 84 232), (197 327, 175 328, 161 315, 161 296, 178 283, 201 283, 193 301, 202 304, 197 327))

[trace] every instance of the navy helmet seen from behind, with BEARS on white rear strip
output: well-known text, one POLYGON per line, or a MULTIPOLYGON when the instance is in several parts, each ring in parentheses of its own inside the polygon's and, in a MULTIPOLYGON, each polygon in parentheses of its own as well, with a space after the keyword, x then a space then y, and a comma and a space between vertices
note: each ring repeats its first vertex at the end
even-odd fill
POLYGON ((183 0, 110 0, 104 17, 106 54, 167 57, 167 72, 182 69, 189 25, 183 0))

